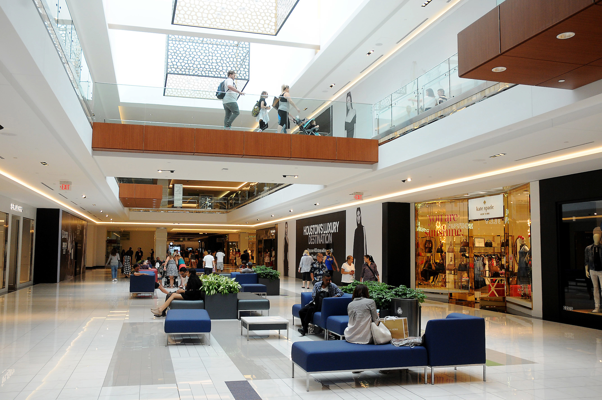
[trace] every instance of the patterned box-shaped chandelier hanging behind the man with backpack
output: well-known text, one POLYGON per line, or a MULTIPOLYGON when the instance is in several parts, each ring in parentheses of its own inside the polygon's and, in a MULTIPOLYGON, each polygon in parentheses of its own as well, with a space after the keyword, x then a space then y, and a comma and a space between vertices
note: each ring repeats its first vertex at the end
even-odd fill
POLYGON ((167 35, 164 96, 216 99, 217 87, 235 70, 238 90, 249 83, 250 43, 167 35))

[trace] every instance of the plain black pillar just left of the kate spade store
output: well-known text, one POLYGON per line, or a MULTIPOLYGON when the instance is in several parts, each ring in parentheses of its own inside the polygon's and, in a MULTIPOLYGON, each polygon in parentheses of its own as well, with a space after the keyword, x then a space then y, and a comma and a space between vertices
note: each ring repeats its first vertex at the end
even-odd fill
POLYGON ((382 204, 382 281, 392 286, 411 287, 410 203, 382 204))

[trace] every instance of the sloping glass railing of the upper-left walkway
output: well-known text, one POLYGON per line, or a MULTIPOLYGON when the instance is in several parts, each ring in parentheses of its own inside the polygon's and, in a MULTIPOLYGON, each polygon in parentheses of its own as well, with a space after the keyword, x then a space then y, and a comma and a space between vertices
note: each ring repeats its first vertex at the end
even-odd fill
POLYGON ((67 2, 66 0, 33 0, 33 2, 54 42, 73 89, 85 113, 91 119, 92 111, 87 101, 92 99, 92 77, 67 2))

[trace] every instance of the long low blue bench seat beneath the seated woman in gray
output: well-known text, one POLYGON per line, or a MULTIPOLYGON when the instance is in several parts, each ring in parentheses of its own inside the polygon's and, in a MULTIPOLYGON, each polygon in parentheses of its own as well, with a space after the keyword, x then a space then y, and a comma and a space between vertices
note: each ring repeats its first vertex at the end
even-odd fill
POLYGON ((291 348, 293 378, 295 366, 306 372, 306 390, 309 390, 309 375, 326 372, 352 372, 358 370, 424 369, 428 355, 423 346, 358 345, 346 340, 330 342, 294 342, 291 348))

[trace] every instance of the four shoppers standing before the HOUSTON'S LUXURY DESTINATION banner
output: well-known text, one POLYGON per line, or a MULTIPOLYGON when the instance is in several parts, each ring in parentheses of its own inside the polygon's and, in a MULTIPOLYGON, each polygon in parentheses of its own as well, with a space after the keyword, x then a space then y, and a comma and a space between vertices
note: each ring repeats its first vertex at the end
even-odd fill
MULTIPOLYGON (((310 282, 315 287, 315 284, 322 280, 325 273, 332 278, 335 270, 341 272, 341 284, 347 285, 355 280, 355 265, 353 264, 352 255, 347 256, 345 263, 340 268, 331 250, 326 250, 326 257, 322 253, 318 253, 315 258, 314 261, 314 258, 309 255, 309 250, 303 251, 298 269, 301 273, 302 289, 310 289, 310 282)), ((359 281, 380 281, 374 258, 369 254, 364 255, 364 265, 359 274, 359 281)))

